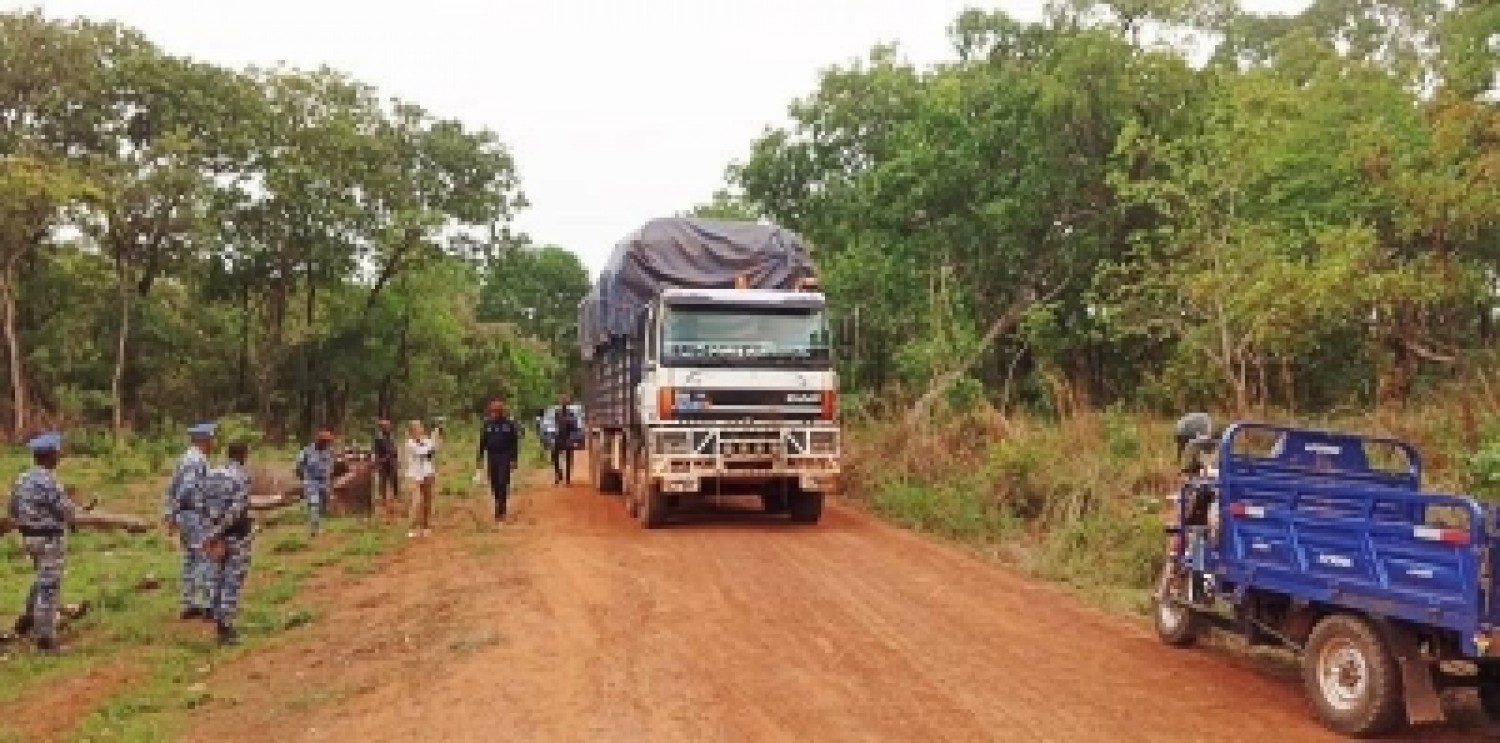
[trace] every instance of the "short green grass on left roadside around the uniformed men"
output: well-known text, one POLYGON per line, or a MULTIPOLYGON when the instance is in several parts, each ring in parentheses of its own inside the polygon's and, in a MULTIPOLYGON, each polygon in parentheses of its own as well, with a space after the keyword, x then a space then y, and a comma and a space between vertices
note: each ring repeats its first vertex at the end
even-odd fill
MULTIPOLYGON (((450 441, 458 452, 465 441, 450 441)), ((99 509, 156 521, 180 441, 132 441, 124 447, 69 452, 60 479, 99 498, 99 509)), ((468 441, 472 446, 472 441, 468 441)), ((441 456, 441 455, 440 455, 441 456)), ((250 465, 291 470, 290 449, 256 449, 250 465)), ((218 456, 216 456, 218 459, 218 456)), ((0 477, 14 479, 28 459, 22 450, 0 453, 0 477)), ((440 458, 440 498, 472 498, 471 462, 464 456, 440 458)), ((288 474, 290 476, 290 474, 288 474)), ((6 494, 8 495, 8 494, 6 494)), ((316 539, 306 531, 300 503, 256 513, 250 579, 242 600, 242 645, 220 648, 210 623, 177 620, 180 557, 176 539, 156 530, 144 534, 82 530, 68 539, 63 602, 87 600, 92 611, 63 633, 66 653, 40 656, 26 642, 0 644, 0 741, 21 740, 8 705, 62 704, 76 710, 70 740, 171 740, 188 716, 213 699, 202 681, 218 665, 294 636, 320 618, 314 593, 340 581, 370 579, 382 555, 405 542, 405 519, 386 524, 362 516, 328 518, 316 539), (154 587, 152 587, 154 584, 154 587), (99 690, 98 699, 54 699, 48 689, 116 669, 122 680, 99 690), (124 671, 118 671, 123 668, 124 671)), ((20 612, 32 582, 30 561, 15 534, 0 539, 0 626, 20 612)), ((294 690, 288 689, 288 693, 294 690)), ((296 702, 296 699, 292 699, 296 702)), ((314 704, 318 699, 303 699, 314 704)))

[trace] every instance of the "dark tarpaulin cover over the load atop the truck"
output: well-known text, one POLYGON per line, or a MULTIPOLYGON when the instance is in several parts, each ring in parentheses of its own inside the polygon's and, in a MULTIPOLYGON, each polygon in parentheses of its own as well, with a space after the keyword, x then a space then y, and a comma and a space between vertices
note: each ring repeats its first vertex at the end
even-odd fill
POLYGON ((666 288, 794 290, 814 276, 800 236, 754 222, 663 218, 646 222, 615 245, 592 291, 578 308, 584 357, 610 336, 633 330, 646 302, 666 288))

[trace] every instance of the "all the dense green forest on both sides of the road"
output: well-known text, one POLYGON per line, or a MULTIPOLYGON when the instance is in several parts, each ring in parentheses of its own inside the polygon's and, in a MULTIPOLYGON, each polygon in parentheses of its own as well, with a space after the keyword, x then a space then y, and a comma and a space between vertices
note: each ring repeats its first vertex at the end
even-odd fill
MULTIPOLYGON (((1500 6, 1070 0, 950 36, 825 71, 693 210, 810 240, 852 408, 1329 410, 1496 356, 1500 6)), ((538 405, 588 276, 525 206, 495 134, 342 74, 0 15, 3 428, 538 405)))

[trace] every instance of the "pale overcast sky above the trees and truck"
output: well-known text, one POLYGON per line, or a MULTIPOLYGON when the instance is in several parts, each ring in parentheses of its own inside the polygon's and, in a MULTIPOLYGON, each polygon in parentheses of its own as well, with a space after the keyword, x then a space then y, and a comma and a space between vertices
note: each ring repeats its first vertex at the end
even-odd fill
POLYGON ((820 69, 878 42, 946 59, 948 24, 975 5, 1035 20, 1042 0, 0 0, 234 68, 327 65, 490 128, 532 203, 518 227, 591 272, 646 219, 706 200, 820 69))

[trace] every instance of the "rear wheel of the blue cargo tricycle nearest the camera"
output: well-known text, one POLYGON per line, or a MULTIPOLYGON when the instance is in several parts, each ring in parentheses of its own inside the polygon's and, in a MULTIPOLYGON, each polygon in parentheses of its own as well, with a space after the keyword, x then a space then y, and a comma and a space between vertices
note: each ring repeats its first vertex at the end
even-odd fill
POLYGON ((1380 735, 1404 719, 1396 659, 1376 627, 1352 614, 1312 627, 1302 686, 1323 725, 1342 735, 1380 735))

